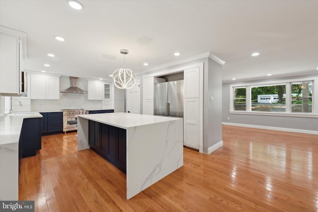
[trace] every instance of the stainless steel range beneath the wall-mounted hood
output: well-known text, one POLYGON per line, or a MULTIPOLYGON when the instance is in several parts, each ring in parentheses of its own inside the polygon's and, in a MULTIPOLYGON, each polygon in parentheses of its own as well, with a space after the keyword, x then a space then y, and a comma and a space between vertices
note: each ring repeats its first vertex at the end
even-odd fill
POLYGON ((63 132, 78 129, 78 115, 88 114, 84 109, 63 109, 63 132))

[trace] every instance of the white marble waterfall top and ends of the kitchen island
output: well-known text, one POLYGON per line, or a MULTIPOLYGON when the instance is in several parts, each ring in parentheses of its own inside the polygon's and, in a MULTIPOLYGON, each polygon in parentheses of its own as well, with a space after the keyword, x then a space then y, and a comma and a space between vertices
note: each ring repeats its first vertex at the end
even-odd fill
POLYGON ((180 118, 131 113, 79 115, 78 151, 90 148, 89 121, 126 133, 127 199, 183 166, 183 120, 180 118))

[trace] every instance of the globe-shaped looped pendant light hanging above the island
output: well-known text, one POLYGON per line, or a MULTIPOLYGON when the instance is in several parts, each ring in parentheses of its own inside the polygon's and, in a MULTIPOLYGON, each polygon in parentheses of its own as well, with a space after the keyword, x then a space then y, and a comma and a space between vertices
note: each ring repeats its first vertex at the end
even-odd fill
POLYGON ((128 54, 128 50, 121 49, 120 53, 124 55, 124 69, 117 69, 113 72, 114 84, 119 89, 130 89, 136 83, 136 74, 125 68, 125 55, 128 54))

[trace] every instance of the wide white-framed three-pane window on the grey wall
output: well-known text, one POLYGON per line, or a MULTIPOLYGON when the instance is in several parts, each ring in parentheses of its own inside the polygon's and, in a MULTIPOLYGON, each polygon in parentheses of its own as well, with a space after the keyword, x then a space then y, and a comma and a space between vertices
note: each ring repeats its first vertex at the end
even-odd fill
POLYGON ((235 84, 230 85, 230 91, 231 113, 318 115, 318 104, 315 104, 318 99, 318 77, 235 84))

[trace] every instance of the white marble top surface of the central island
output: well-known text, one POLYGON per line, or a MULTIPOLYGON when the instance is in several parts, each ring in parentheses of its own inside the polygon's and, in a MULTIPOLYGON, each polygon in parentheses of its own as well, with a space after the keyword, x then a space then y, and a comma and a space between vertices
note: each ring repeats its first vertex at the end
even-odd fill
POLYGON ((133 113, 99 113, 79 115, 78 117, 123 129, 180 119, 174 117, 151 116, 133 113))

